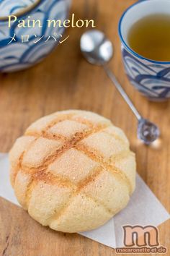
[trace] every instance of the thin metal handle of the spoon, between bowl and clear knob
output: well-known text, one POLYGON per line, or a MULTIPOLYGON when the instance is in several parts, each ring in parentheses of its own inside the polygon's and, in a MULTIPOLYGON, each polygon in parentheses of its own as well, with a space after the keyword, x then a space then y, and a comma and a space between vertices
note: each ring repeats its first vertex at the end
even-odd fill
POLYGON ((139 121, 142 118, 142 116, 139 114, 138 110, 133 105, 133 102, 130 100, 129 96, 125 93, 125 90, 122 88, 122 85, 120 85, 120 82, 117 81, 117 78, 115 77, 115 75, 112 73, 112 71, 107 66, 104 66, 104 70, 107 73, 108 77, 112 80, 112 82, 115 85, 115 87, 117 88, 117 90, 122 95, 122 98, 124 98, 124 100, 126 101, 128 106, 133 111, 133 114, 135 114, 136 118, 139 121))

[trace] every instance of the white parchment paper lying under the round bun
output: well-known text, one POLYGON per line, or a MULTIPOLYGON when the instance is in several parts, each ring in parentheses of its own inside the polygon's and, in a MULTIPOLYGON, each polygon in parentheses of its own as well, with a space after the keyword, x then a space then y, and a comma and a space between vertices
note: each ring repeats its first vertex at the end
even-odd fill
MULTIPOLYGON (((9 182, 8 154, 0 153, 0 196, 19 206, 9 182)), ((0 208, 1 210, 1 208, 0 208)), ((122 247, 124 225, 158 226, 169 219, 169 213, 151 192, 151 189, 137 174, 136 189, 128 206, 108 221, 104 226, 93 231, 80 233, 109 247, 122 247)))

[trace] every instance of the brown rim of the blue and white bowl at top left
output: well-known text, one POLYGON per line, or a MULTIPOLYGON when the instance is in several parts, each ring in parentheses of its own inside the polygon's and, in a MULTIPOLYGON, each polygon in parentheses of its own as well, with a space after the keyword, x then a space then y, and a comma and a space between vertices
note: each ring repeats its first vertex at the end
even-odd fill
MULTIPOLYGON (((24 9, 22 9, 19 12, 16 12, 12 15, 17 16, 17 18, 23 17, 24 15, 30 14, 30 12, 32 12, 32 10, 34 10, 35 8, 39 7, 40 4, 42 4, 45 0, 37 0, 35 3, 31 4, 29 7, 25 7, 24 9)), ((0 23, 1 22, 7 22, 8 21, 8 16, 6 15, 4 17, 0 17, 0 23)))

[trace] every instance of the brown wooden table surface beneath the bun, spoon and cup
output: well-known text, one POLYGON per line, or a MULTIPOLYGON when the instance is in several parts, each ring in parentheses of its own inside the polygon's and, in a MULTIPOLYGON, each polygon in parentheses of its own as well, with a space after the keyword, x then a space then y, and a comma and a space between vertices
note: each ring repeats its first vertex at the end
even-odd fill
MULTIPOLYGON (((130 85, 122 66, 117 23, 134 0, 74 0, 71 12, 93 18, 115 45, 110 67, 146 118, 161 129, 161 143, 148 148, 136 139, 136 120, 100 67, 82 59, 79 38, 83 30, 67 30, 69 40, 32 69, 0 74, 0 151, 12 143, 35 119, 58 110, 79 108, 112 119, 125 130, 135 151, 138 173, 170 210, 170 102, 151 103, 130 85)), ((154 214, 154 213, 153 213, 154 214)), ((169 247, 170 221, 162 224, 160 242, 169 247)), ((40 226, 24 210, 0 198, 0 255, 6 256, 109 256, 114 249, 78 234, 62 234, 40 226)))

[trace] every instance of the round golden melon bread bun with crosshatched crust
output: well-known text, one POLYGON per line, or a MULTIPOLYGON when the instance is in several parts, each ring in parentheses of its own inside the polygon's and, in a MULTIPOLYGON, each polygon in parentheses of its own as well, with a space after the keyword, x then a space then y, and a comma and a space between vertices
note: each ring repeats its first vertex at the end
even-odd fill
POLYGON ((17 200, 44 226, 96 229, 125 208, 135 189, 135 154, 124 132, 87 111, 35 121, 10 151, 17 200))

